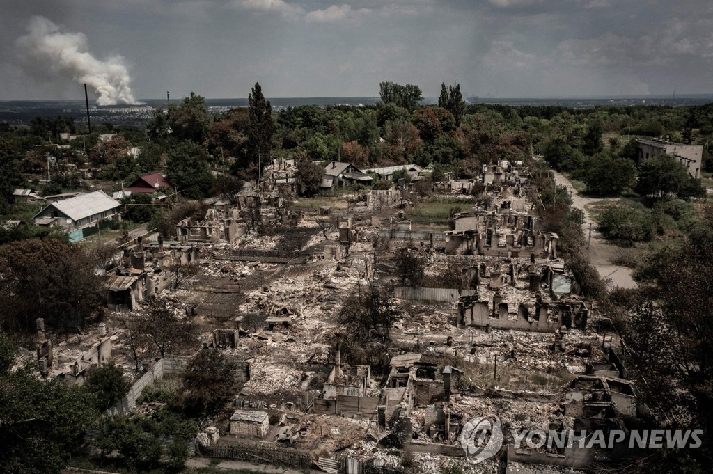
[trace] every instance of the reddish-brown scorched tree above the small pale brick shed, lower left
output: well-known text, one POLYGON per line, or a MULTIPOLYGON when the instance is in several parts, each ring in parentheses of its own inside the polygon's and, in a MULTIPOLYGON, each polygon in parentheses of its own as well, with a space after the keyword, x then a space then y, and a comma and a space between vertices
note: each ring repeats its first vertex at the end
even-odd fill
POLYGON ((236 361, 217 349, 198 352, 183 371, 185 411, 193 416, 220 411, 235 394, 239 370, 236 361))

